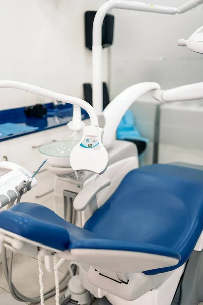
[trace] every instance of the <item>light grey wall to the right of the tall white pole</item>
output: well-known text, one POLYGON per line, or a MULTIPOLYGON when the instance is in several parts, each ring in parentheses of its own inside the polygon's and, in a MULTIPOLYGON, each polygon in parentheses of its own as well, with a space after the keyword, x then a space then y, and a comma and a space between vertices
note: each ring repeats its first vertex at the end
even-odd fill
MULTIPOLYGON (((187 0, 156 0, 179 6, 187 0)), ((147 1, 144 1, 147 2, 147 1)), ((163 89, 202 81, 203 55, 177 46, 202 26, 203 7, 183 15, 159 15, 114 9, 115 36, 111 47, 110 93, 142 81, 157 81, 163 89)))

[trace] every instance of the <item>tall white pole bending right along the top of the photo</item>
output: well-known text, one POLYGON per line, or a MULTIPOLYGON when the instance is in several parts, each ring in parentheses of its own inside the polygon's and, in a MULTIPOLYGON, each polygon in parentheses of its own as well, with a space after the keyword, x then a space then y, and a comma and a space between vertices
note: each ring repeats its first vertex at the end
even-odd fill
POLYGON ((203 0, 190 0, 186 4, 175 8, 146 4, 142 2, 127 0, 110 0, 105 2, 97 11, 93 24, 93 46, 92 46, 92 90, 93 90, 93 107, 97 114, 103 110, 103 91, 102 91, 102 24, 105 15, 110 9, 126 9, 134 11, 143 11, 159 14, 181 14, 203 3, 203 0))

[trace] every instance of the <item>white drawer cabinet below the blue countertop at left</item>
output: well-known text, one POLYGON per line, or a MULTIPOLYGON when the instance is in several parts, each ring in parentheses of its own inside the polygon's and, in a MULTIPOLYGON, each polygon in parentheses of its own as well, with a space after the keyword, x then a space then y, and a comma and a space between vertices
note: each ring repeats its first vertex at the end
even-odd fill
MULTIPOLYGON (((11 161, 34 173, 42 163, 38 148, 53 140, 67 140, 66 125, 0 142, 0 161, 11 161)), ((38 185, 22 196, 22 202, 35 202, 53 209, 55 175, 43 167, 36 175, 38 185)))

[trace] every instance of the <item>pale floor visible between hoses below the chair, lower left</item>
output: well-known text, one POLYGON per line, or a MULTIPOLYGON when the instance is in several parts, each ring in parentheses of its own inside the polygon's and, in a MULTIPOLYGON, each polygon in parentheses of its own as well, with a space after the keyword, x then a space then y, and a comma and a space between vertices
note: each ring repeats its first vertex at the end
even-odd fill
MULTIPOLYGON (((59 278, 67 272, 68 264, 64 264, 59 271, 59 278)), ((54 275, 45 270, 43 264, 43 284, 44 291, 54 285, 54 275)), ((33 297, 39 295, 39 273, 38 261, 35 258, 21 254, 14 255, 12 280, 16 288, 26 296, 33 297)), ((2 264, 0 264, 0 304, 17 305, 25 304, 15 300, 9 292, 8 284, 4 278, 2 264)), ((55 305, 55 298, 45 301, 46 305, 55 305)))

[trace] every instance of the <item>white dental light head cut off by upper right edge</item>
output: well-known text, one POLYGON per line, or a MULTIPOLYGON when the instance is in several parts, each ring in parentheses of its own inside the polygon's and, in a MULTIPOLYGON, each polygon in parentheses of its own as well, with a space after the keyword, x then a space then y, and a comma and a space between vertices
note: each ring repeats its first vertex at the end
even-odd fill
POLYGON ((196 53, 203 53, 203 26, 198 28, 189 38, 178 40, 178 46, 186 46, 189 50, 196 53))

